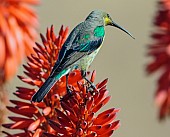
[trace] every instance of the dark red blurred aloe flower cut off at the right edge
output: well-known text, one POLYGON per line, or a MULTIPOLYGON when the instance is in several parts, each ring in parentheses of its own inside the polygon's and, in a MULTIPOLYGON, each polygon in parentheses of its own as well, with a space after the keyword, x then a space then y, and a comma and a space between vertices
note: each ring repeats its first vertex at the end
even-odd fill
POLYGON ((154 20, 157 30, 151 35, 154 43, 149 46, 148 55, 153 61, 147 65, 149 74, 159 71, 160 78, 155 101, 160 112, 159 118, 170 114, 170 1, 158 2, 158 12, 154 20))

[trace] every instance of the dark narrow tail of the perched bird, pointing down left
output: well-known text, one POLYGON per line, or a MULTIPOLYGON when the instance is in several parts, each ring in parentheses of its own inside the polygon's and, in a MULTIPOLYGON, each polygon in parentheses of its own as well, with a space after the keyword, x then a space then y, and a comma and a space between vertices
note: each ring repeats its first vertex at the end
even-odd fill
POLYGON ((45 95, 50 91, 50 89, 53 87, 57 79, 55 77, 49 77, 44 84, 41 86, 41 88, 33 95, 31 101, 33 102, 41 102, 45 95))

